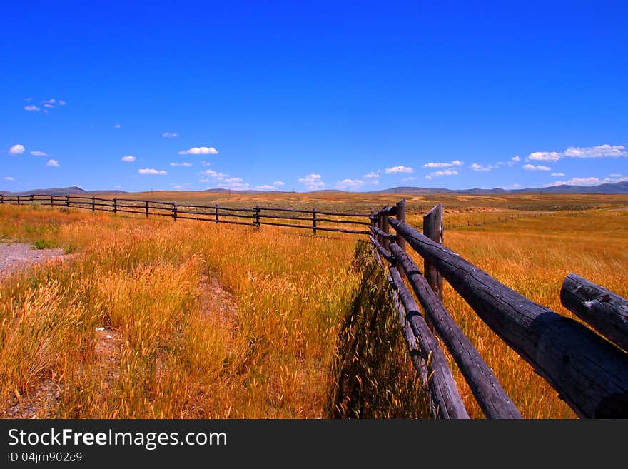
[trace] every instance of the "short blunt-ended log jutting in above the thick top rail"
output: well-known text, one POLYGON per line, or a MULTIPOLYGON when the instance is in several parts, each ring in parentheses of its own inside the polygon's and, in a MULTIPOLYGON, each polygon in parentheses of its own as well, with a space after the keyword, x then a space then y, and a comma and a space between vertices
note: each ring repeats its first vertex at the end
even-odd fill
POLYGON ((562 306, 628 351, 628 300, 575 273, 562 282, 562 306))

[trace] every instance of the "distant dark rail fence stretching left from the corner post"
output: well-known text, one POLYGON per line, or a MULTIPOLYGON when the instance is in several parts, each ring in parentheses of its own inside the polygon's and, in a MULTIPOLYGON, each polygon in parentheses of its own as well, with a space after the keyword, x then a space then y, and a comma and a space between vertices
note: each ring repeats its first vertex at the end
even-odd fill
POLYGON ((37 203, 48 206, 64 206, 84 208, 86 210, 107 211, 111 213, 135 213, 146 216, 167 216, 173 220, 213 221, 214 223, 231 223, 260 227, 261 225, 284 226, 318 231, 333 231, 338 233, 352 233, 368 235, 366 227, 370 226, 369 213, 343 213, 333 211, 296 210, 293 208, 260 207, 233 208, 219 206, 194 205, 189 203, 146 201, 134 198, 101 198, 91 196, 48 196, 34 194, 29 196, 1 195, 0 203, 37 203), (350 218, 350 219, 346 219, 350 218), (290 223, 298 221, 298 223, 290 223), (364 226, 365 229, 334 228, 329 224, 364 226))

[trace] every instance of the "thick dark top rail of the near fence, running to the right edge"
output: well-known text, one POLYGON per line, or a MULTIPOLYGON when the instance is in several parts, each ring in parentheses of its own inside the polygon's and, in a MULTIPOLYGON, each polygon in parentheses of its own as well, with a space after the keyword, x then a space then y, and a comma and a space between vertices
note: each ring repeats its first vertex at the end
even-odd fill
POLYGON ((467 303, 577 415, 628 417, 628 354, 540 306, 427 236, 390 218, 397 236, 434 264, 467 303))

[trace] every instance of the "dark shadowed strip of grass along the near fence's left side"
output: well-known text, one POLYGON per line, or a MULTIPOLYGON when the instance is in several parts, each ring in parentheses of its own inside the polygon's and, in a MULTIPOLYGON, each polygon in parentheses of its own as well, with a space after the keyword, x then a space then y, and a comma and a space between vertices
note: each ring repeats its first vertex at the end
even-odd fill
POLYGON ((360 286, 336 343, 328 418, 430 418, 388 282, 367 241, 358 242, 352 268, 360 286))

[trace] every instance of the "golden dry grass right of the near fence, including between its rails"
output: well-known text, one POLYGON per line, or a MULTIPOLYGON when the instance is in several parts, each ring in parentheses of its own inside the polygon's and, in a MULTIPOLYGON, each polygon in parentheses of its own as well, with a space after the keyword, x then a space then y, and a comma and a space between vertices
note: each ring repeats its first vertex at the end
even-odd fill
MULTIPOLYGON (((628 297, 628 211, 557 212, 445 232, 445 245, 533 301, 577 319, 559 298, 574 272, 628 297)), ((420 256, 415 261, 422 266, 420 256)), ((545 380, 505 346, 445 281, 444 303, 525 418, 575 418, 545 380)), ((481 417, 460 373, 465 405, 481 417)))

